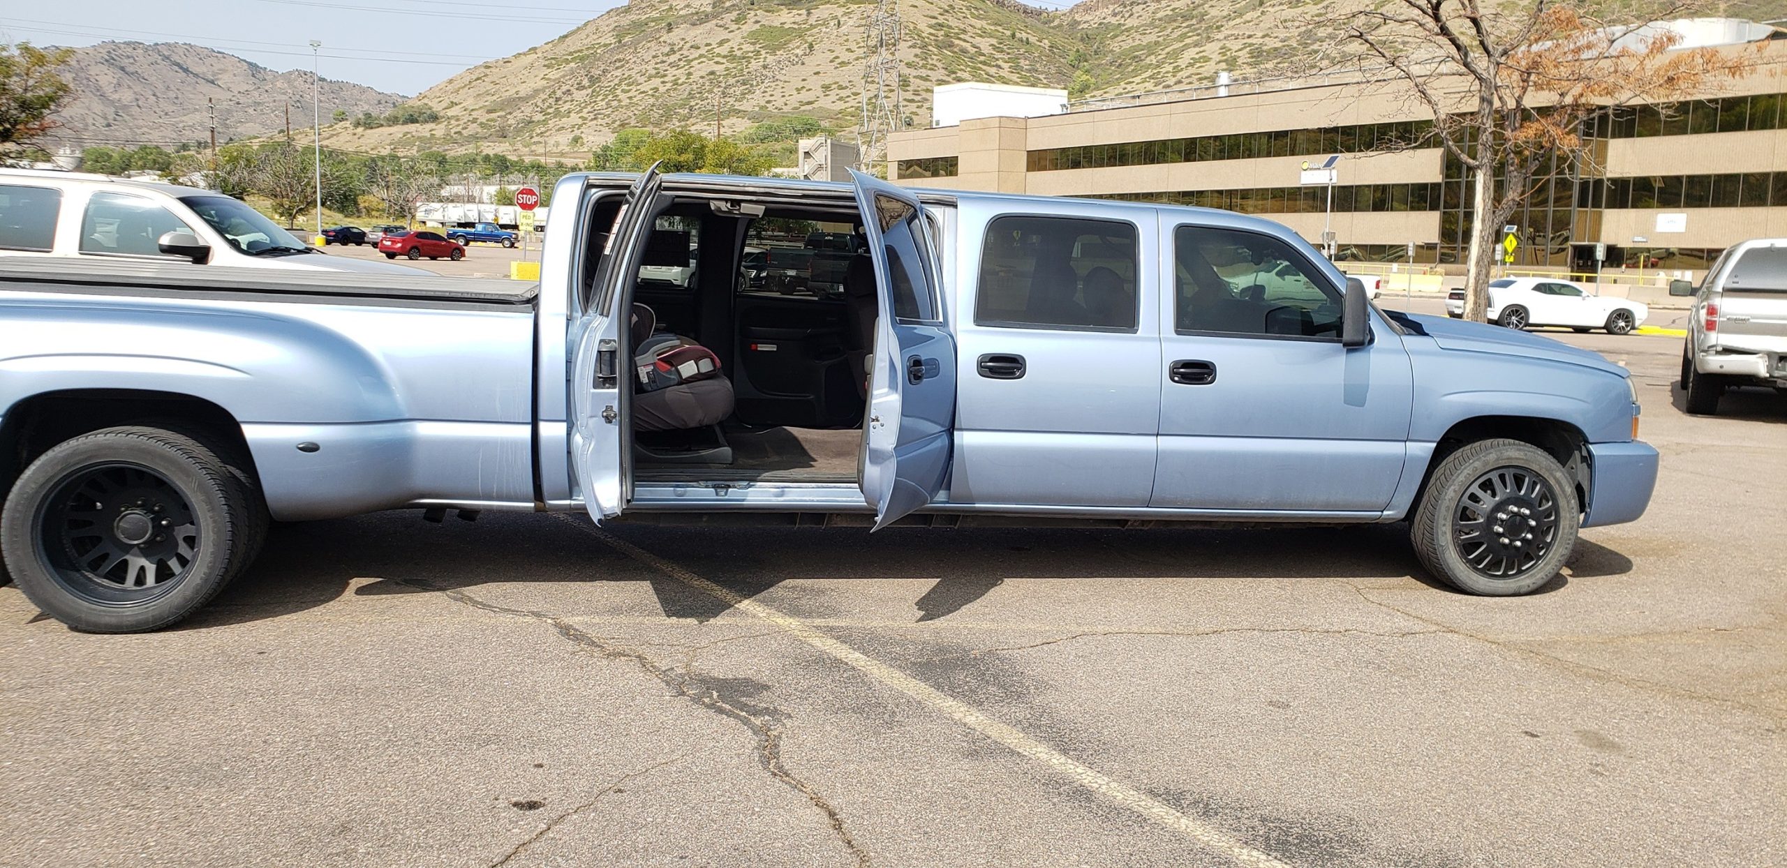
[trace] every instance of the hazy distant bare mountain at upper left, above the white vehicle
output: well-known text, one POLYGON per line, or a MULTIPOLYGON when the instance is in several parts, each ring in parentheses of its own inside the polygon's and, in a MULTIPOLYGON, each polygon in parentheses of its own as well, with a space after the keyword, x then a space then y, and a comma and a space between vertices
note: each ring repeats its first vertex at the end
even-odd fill
MULTIPOLYGON (((186 43, 98 43, 75 48, 66 70, 73 102, 57 118, 80 145, 177 143, 209 138, 206 98, 216 100, 218 141, 311 125, 309 71, 273 71, 232 54, 186 43)), ((322 80, 327 118, 357 116, 402 102, 395 93, 322 80)))

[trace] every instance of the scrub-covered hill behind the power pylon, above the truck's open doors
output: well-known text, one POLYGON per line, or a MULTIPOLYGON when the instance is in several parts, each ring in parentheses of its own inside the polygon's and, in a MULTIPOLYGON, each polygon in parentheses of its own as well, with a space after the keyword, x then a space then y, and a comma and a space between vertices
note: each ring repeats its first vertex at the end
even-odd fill
MULTIPOLYGON (((783 114, 849 123, 867 55, 863 0, 633 0, 513 57, 466 70, 416 102, 441 121, 334 130, 343 146, 463 146, 624 127, 722 127, 783 114)), ((1079 46, 1047 14, 997 0, 904 0, 904 107, 929 121, 929 89, 958 80, 1063 84, 1079 46)))

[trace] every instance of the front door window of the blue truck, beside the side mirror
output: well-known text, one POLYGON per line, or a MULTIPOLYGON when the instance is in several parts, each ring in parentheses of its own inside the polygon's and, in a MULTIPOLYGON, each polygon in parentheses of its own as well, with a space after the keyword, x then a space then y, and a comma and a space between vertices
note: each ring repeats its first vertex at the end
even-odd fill
POLYGON ((1340 291, 1288 243, 1215 227, 1172 232, 1174 330, 1340 336, 1340 291))

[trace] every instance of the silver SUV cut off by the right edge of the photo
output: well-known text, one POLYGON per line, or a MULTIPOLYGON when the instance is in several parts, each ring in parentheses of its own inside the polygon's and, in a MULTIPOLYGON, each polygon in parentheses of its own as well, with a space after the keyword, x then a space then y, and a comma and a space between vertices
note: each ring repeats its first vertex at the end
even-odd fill
POLYGON ((1787 238, 1742 241, 1712 264, 1699 289, 1674 280, 1669 295, 1694 296, 1682 348, 1689 413, 1717 413, 1726 386, 1787 391, 1787 238))

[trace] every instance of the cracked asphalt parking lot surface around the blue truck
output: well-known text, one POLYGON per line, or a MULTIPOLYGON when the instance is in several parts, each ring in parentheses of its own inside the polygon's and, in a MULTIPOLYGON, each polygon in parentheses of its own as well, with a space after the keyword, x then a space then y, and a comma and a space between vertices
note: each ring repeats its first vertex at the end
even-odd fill
POLYGON ((0 588, 0 864, 1783 864, 1787 398, 1556 334, 1662 477, 1528 598, 1396 525, 490 513, 279 527, 159 634, 0 588))

